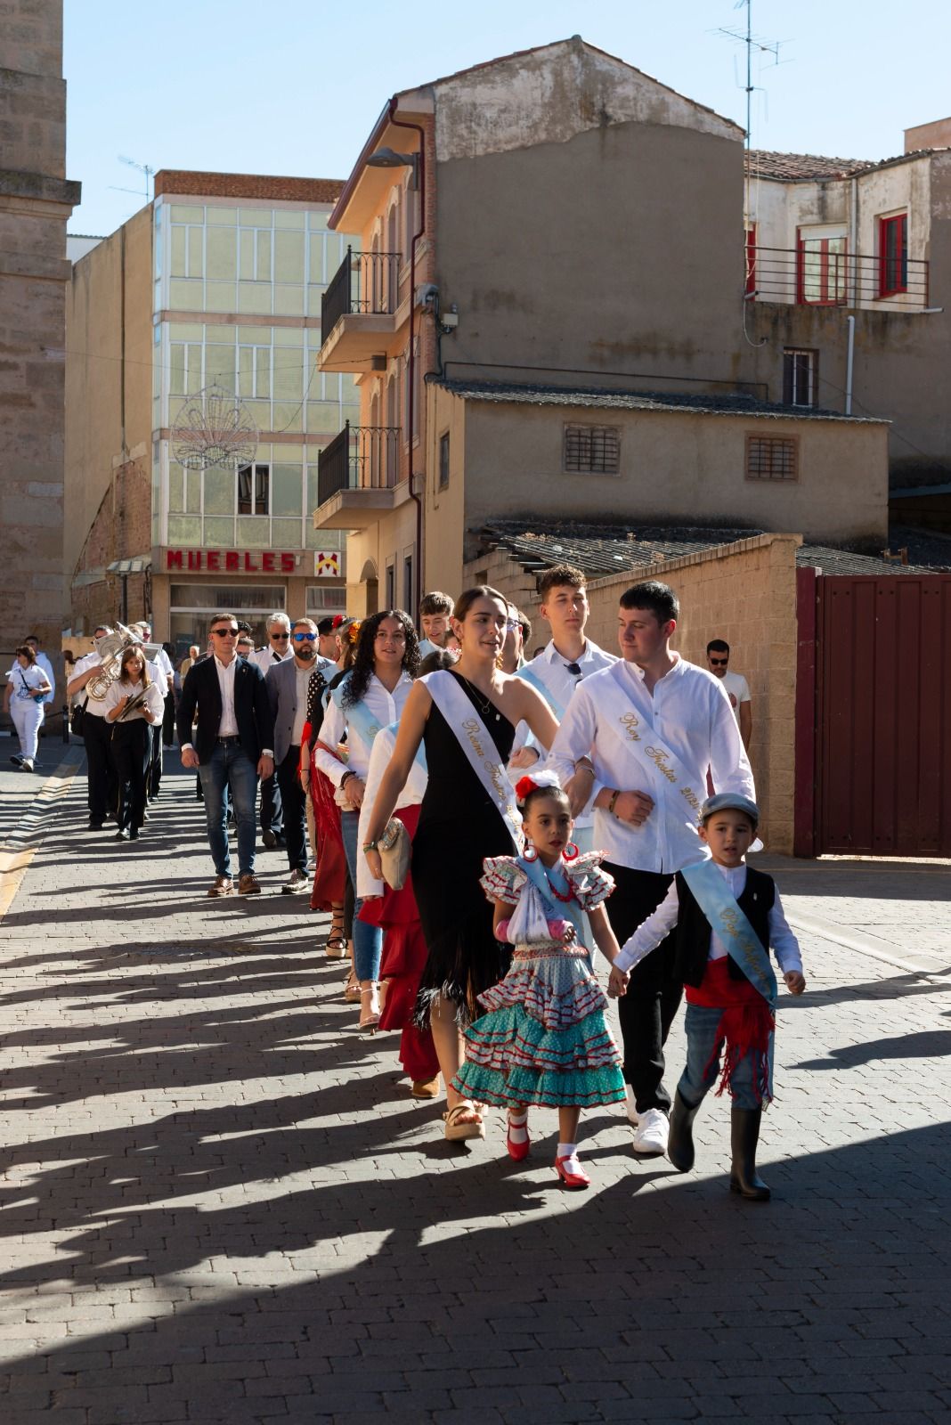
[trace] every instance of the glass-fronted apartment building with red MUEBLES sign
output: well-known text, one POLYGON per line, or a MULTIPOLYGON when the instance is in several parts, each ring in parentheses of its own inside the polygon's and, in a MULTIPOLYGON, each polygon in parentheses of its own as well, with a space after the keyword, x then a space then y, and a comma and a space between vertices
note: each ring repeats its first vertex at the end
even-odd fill
POLYGON ((343 611, 343 537, 310 517, 317 455, 356 415, 350 378, 316 369, 320 304, 346 249, 327 231, 340 187, 161 171, 154 202, 74 264, 74 634, 145 617, 185 650, 216 608, 259 638, 275 608, 343 611), (245 429, 218 459, 212 428, 228 422, 245 429))

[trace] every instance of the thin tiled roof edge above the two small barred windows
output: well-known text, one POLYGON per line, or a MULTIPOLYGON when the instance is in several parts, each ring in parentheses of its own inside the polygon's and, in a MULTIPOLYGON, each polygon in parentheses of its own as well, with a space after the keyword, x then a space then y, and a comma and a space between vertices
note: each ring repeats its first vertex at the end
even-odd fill
POLYGON ((574 406, 588 410, 665 410, 690 412, 700 416, 774 416, 786 420, 876 420, 871 416, 843 416, 836 410, 780 406, 772 400, 756 400, 732 392, 716 396, 709 392, 676 390, 608 390, 601 386, 550 386, 504 380, 440 380, 444 390, 464 400, 488 400, 522 406, 574 406))

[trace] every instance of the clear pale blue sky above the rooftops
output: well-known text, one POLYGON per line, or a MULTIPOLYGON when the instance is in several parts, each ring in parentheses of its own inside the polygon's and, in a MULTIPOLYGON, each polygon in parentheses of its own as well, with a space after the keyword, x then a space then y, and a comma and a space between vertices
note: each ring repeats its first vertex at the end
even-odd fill
MULTIPOLYGON (((346 178, 390 94, 581 34, 743 124, 733 0, 64 0, 71 232, 112 232, 152 168, 346 178)), ((753 0, 753 144, 887 158, 951 114, 948 0, 753 0)))

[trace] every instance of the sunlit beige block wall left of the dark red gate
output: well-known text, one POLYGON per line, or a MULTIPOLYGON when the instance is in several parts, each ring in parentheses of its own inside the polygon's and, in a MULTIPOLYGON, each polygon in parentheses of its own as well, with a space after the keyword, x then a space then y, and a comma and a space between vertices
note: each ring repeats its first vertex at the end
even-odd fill
MULTIPOLYGON (((706 667, 706 644, 726 638, 730 668, 753 698, 750 762, 769 851, 792 855, 796 752, 796 550, 799 534, 759 534, 703 554, 625 570, 588 586, 595 643, 616 653, 618 601, 642 579, 662 579, 681 600, 672 647, 706 667)), ((503 550, 466 566, 464 586, 490 583, 532 620, 531 647, 548 641, 535 577, 503 550)), ((531 650, 530 650, 531 651, 531 650)))

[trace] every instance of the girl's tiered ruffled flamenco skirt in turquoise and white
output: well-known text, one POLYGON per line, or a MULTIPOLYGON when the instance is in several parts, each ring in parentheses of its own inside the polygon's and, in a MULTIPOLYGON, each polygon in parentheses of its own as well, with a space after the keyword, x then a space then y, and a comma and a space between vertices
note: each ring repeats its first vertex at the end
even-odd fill
POLYGON ((619 1103, 621 1054, 606 1000, 579 946, 517 946, 508 975, 478 996, 453 1087, 497 1107, 619 1103))

